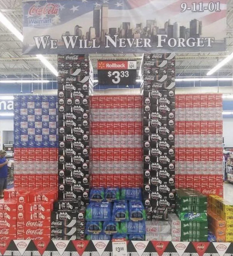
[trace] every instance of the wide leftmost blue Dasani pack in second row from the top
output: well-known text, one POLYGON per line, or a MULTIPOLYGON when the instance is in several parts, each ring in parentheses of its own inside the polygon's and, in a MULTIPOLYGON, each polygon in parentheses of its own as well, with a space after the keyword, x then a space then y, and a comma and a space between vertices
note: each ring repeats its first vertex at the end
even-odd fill
POLYGON ((90 202, 86 208, 86 220, 111 221, 112 204, 109 202, 90 202))

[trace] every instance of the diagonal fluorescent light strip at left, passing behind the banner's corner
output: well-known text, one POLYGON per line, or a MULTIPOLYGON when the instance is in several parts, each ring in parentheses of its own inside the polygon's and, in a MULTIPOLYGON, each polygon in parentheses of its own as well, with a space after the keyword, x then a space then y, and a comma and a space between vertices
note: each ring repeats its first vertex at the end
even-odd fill
MULTIPOLYGON (((19 30, 14 27, 9 20, 0 12, 0 22, 10 30, 11 33, 13 33, 21 42, 23 42, 24 36, 22 33, 19 32, 19 30)), ((57 70, 54 68, 54 66, 49 63, 45 57, 43 57, 41 54, 36 55, 36 57, 55 75, 58 76, 57 70)))

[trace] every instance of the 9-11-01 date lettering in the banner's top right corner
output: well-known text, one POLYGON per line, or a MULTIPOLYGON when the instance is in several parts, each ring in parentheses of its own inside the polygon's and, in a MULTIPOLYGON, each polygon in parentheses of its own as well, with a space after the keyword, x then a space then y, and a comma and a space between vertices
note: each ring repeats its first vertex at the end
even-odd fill
POLYGON ((181 12, 184 11, 191 11, 191 12, 203 12, 203 11, 221 11, 221 4, 220 2, 209 2, 209 3, 203 3, 203 2, 194 2, 191 3, 191 5, 188 5, 187 3, 182 3, 180 5, 181 12))

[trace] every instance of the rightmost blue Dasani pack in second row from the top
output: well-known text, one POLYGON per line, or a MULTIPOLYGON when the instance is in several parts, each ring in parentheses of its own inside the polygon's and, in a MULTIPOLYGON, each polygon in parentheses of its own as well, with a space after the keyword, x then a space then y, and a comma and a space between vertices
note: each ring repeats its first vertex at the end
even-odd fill
POLYGON ((146 220, 146 212, 141 201, 129 201, 129 213, 131 221, 146 220))

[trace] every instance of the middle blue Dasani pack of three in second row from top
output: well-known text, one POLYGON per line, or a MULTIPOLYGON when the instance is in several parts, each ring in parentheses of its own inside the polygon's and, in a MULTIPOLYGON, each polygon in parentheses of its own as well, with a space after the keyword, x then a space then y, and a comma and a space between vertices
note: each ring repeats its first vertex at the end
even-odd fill
POLYGON ((112 221, 129 221, 127 201, 119 201, 113 204, 112 221))

